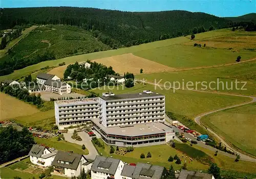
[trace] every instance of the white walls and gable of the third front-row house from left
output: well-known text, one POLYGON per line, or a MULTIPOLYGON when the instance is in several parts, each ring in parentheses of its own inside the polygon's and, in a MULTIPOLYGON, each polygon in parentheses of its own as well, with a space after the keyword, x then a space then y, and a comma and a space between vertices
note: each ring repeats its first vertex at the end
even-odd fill
POLYGON ((111 175, 109 173, 97 172, 97 171, 91 170, 91 177, 92 177, 92 179, 108 179, 108 177, 121 179, 122 178, 121 173, 122 173, 123 167, 124 167, 124 163, 120 160, 114 175, 111 175))

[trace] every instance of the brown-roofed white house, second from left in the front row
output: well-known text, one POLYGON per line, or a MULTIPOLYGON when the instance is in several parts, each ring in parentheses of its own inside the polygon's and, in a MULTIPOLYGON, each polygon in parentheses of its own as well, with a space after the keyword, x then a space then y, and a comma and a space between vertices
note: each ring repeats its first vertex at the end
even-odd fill
POLYGON ((59 150, 52 162, 53 172, 69 177, 79 176, 83 169, 85 172, 90 170, 92 162, 83 155, 59 150))

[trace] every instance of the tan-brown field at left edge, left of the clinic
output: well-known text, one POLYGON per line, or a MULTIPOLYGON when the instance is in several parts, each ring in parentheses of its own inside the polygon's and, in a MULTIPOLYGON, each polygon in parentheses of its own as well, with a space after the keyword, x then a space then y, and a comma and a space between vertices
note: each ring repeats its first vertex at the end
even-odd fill
POLYGON ((22 100, 0 92, 0 120, 38 113, 39 110, 22 100))

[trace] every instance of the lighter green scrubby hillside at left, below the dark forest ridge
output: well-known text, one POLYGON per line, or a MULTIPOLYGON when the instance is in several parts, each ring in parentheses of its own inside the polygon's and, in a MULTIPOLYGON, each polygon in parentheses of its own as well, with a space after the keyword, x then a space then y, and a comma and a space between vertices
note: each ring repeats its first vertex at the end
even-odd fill
POLYGON ((44 25, 36 28, 0 59, 0 76, 42 61, 88 54, 110 47, 92 33, 70 25, 44 25))

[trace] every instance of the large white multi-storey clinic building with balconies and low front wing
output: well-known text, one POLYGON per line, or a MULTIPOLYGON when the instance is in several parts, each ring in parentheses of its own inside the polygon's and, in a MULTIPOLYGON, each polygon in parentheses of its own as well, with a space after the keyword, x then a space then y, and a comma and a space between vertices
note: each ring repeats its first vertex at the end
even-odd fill
POLYGON ((55 119, 59 129, 90 120, 103 141, 116 146, 163 144, 175 136, 165 124, 165 96, 149 90, 58 100, 55 119))

